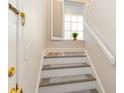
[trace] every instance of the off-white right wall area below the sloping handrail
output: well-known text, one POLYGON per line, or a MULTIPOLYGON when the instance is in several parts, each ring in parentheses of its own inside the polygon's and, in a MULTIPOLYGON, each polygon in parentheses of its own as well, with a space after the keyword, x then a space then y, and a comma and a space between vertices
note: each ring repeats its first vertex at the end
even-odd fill
MULTIPOLYGON (((94 37, 85 28, 86 49, 106 93, 116 93, 116 67, 109 63, 94 37)), ((99 87, 98 87, 99 88, 99 87)))

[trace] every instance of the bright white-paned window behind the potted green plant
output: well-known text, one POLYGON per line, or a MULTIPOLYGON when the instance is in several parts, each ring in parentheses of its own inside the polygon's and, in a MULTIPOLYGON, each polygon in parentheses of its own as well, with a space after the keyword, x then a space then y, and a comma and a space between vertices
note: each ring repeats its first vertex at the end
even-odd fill
POLYGON ((72 33, 78 33, 78 40, 83 40, 83 16, 65 15, 64 18, 64 39, 72 40, 72 33))

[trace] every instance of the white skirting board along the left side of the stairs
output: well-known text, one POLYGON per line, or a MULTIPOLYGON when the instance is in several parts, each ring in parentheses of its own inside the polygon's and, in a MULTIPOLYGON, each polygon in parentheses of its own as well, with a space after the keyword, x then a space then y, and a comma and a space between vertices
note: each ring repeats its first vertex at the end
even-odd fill
POLYGON ((40 62, 40 68, 39 68, 39 72, 38 72, 38 77, 37 77, 37 83, 36 83, 36 90, 35 93, 38 93, 39 91, 39 84, 40 84, 40 76, 41 76, 41 69, 43 67, 43 60, 44 60, 44 55, 45 55, 46 49, 43 50, 42 52, 42 57, 41 57, 41 62, 40 62))

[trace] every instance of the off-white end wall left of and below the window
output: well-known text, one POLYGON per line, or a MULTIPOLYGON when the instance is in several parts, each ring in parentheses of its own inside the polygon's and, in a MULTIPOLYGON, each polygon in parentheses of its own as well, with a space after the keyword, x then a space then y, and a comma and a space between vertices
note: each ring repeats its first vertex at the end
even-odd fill
POLYGON ((48 48, 84 48, 85 42, 81 42, 81 41, 51 40, 50 9, 51 9, 50 0, 48 0, 48 48))

